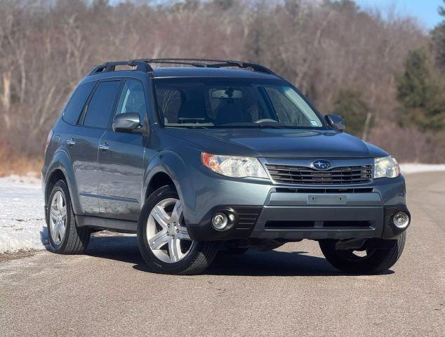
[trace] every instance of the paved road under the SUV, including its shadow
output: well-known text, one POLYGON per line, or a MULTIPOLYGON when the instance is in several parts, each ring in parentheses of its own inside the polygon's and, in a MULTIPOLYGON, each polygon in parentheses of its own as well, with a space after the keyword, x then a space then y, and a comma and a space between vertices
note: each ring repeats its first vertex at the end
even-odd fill
POLYGON ((445 336, 445 173, 407 177, 413 225, 386 275, 344 275, 317 244, 147 272, 134 237, 0 263, 0 336, 445 336))

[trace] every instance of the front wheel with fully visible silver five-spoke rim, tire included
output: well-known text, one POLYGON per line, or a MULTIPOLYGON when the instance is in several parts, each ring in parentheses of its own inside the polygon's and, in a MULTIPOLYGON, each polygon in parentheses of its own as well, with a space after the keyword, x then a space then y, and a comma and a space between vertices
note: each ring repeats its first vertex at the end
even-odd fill
POLYGON ((142 207, 138 246, 150 270, 171 275, 199 274, 218 252, 215 242, 190 239, 178 192, 171 185, 154 191, 142 207))

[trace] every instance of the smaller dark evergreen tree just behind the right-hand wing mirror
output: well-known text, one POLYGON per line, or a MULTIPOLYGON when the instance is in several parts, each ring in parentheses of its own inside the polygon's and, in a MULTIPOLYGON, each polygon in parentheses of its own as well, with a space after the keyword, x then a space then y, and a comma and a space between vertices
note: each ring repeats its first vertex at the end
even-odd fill
POLYGON ((347 133, 354 136, 363 135, 368 112, 370 109, 359 91, 342 89, 334 98, 333 114, 340 114, 345 119, 347 133))

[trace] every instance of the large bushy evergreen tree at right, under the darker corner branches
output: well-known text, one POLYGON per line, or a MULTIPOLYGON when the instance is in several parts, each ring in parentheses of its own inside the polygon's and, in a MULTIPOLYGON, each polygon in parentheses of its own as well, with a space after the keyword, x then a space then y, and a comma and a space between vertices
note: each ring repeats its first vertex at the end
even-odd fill
POLYGON ((411 51, 404 73, 397 76, 401 124, 439 131, 445 127, 445 80, 424 49, 411 51))

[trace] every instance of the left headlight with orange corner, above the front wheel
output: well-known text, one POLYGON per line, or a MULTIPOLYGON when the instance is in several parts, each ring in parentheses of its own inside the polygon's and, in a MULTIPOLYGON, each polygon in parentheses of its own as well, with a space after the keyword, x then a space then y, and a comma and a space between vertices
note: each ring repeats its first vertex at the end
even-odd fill
POLYGON ((268 178, 263 165, 256 158, 218 156, 206 152, 201 153, 202 163, 212 171, 227 177, 268 178))

